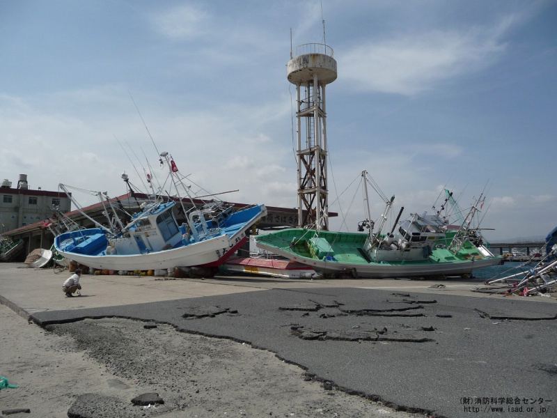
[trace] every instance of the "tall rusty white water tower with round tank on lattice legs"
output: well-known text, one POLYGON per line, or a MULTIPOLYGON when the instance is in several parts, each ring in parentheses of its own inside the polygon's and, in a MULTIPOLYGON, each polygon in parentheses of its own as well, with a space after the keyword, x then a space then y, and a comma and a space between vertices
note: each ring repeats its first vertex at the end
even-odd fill
POLYGON ((298 226, 329 229, 325 86, 336 80, 333 49, 320 43, 290 51, 288 81, 296 86, 298 226))

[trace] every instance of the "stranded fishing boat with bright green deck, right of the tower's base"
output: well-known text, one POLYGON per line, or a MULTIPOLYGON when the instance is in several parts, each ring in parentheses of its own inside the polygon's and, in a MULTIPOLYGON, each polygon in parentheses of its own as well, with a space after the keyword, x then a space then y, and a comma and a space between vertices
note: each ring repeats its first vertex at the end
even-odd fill
MULTIPOLYGON (((367 180, 367 172, 362 172, 367 180)), ((367 184, 366 182, 364 183, 367 184)), ((376 188, 376 187, 374 187, 376 188)), ((377 189, 376 189, 377 191, 377 189)), ((433 277, 471 274, 477 268, 501 263, 485 244, 478 228, 471 224, 483 198, 476 201, 460 226, 450 226, 441 211, 434 215, 411 215, 398 224, 402 208, 389 233, 382 233, 394 196, 382 194, 386 208, 379 227, 367 219, 359 229, 368 233, 317 231, 315 229, 285 229, 256 237, 261 249, 304 263, 323 274, 346 274, 352 277, 433 277)), ((448 195, 446 201, 452 199, 448 195)), ((364 200, 368 201, 367 189, 364 200)))

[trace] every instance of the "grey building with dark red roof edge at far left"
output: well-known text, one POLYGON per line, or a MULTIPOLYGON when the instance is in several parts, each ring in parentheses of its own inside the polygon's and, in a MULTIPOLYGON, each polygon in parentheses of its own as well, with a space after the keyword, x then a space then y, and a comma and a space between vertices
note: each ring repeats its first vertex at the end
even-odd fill
POLYGON ((63 212, 70 211, 71 201, 65 194, 0 187, 0 233, 51 217, 54 203, 63 212))

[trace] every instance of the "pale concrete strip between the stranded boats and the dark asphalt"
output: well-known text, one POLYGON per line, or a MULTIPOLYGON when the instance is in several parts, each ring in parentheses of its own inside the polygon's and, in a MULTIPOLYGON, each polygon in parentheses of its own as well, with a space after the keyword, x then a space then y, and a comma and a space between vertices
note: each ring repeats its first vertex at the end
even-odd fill
MULTIPOLYGON (((212 279, 163 279, 139 276, 81 277, 83 294, 68 298, 61 291, 70 273, 55 274, 52 269, 29 268, 22 263, 0 263, 0 302, 8 304, 22 316, 41 311, 111 307, 127 304, 162 302, 265 291, 284 288, 362 288, 407 291, 432 295, 460 295, 501 299, 500 295, 474 293, 477 281, 409 281, 395 279, 273 279, 269 277, 221 276, 212 279), (432 286, 444 286, 436 288, 432 286)), ((513 297, 521 299, 520 297, 513 297)), ((506 298, 508 299, 508 298, 506 298)), ((528 300, 556 302, 550 297, 528 297, 528 300)))

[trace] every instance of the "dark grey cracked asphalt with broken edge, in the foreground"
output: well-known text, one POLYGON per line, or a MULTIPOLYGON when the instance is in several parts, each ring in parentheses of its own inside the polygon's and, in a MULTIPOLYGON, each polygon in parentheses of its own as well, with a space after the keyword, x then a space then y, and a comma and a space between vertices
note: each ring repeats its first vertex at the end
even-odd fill
MULTIPOLYGON (((121 317, 251 343, 386 405, 469 417, 469 398, 543 398, 556 416, 557 305, 362 288, 292 288, 118 307, 42 311, 42 326, 121 317)), ((484 409, 485 408, 485 409, 484 409)))

